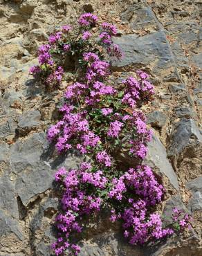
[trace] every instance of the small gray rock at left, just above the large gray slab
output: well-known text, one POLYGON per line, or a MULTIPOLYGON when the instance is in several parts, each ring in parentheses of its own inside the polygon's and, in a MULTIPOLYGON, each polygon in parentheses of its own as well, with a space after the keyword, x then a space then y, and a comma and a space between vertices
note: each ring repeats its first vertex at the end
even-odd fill
POLYGON ((26 127, 36 127, 40 125, 41 113, 37 110, 34 111, 26 111, 19 118, 18 126, 21 128, 26 127))

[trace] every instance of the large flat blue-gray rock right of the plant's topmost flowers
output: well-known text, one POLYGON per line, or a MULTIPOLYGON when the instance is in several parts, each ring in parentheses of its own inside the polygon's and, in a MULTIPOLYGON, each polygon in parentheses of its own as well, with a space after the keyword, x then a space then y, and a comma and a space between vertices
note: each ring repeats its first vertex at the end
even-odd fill
MULTIPOLYGON (((155 63, 152 69, 156 73, 160 73, 160 69, 162 68, 165 69, 175 66, 167 39, 161 31, 143 37, 124 35, 114 38, 113 42, 118 44, 125 54, 125 57, 120 62, 114 62, 113 66, 120 68, 122 66, 134 65, 139 67, 155 63)), ((178 75, 176 79, 180 80, 178 75)))

